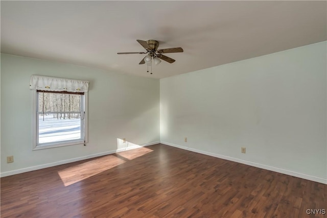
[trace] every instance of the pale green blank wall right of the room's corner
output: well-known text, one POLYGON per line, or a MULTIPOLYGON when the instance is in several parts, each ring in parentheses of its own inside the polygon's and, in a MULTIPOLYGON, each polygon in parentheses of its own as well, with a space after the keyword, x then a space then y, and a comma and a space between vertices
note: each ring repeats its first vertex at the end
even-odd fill
POLYGON ((326 42, 161 79, 160 139, 325 182, 326 42))

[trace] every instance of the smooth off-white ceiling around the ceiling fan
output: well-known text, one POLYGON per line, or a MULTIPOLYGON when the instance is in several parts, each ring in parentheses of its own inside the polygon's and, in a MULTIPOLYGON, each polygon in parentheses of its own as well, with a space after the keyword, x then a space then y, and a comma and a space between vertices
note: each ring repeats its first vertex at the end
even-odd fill
POLYGON ((326 1, 1 1, 1 52, 165 78, 326 40, 326 1), (136 39, 175 63, 139 65, 136 39))

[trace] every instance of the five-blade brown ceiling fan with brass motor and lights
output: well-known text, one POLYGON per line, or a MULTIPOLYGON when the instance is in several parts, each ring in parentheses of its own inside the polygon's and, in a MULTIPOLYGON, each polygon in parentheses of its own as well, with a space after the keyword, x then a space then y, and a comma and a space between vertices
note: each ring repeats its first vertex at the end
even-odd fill
POLYGON ((174 59, 172 59, 170 57, 167 57, 165 55, 162 55, 162 54, 183 52, 183 49, 181 47, 171 47, 170 49, 159 49, 158 50, 159 42, 156 41, 156 40, 152 40, 152 39, 147 40, 147 41, 137 39, 136 41, 138 43, 140 43, 147 50, 147 52, 120 52, 120 53, 117 53, 117 54, 118 55, 148 54, 138 64, 145 64, 147 62, 148 65, 149 65, 149 64, 151 64, 151 62, 153 60, 154 64, 158 65, 161 62, 161 60, 167 61, 168 63, 174 63, 175 62, 174 59))

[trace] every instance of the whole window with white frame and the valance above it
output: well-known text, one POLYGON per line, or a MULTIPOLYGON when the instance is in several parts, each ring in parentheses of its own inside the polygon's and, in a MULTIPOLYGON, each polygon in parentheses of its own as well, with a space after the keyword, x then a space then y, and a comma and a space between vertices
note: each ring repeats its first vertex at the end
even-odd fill
MULTIPOLYGON (((40 79, 38 79, 38 82, 36 82, 38 85, 32 85, 35 89, 31 88, 34 89, 33 150, 86 143, 87 92, 83 92, 80 85, 75 87, 75 83, 73 84, 74 87, 68 85, 69 88, 67 88, 67 83, 58 86, 54 81, 58 81, 59 78, 51 78, 55 79, 53 81, 47 77, 37 77, 42 78, 41 83, 44 82, 43 79, 45 78, 45 80, 48 80, 46 84, 50 85, 44 86, 44 84, 40 84, 40 79)), ((68 79, 61 80, 67 82, 68 79)), ((76 82, 75 80, 68 81, 76 82)), ((31 84, 33 84, 32 78, 31 84)))

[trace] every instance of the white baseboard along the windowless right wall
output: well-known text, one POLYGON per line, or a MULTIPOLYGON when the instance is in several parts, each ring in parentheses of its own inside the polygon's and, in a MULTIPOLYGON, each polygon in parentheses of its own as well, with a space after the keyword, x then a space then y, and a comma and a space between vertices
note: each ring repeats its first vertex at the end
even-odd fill
POLYGON ((160 143, 167 144, 167 146, 172 146, 172 147, 176 147, 176 148, 179 148, 179 149, 184 149, 184 150, 188 150, 188 151, 192 151, 192 152, 196 152, 196 153, 200 153, 200 154, 204 154, 204 155, 208 155, 208 156, 212 156, 212 157, 221 158, 221 159, 224 159, 224 160, 230 160, 230 161, 233 161, 233 162, 243 163, 243 164, 246 164, 246 165, 259 167, 259 168, 262 168, 262 169, 268 169, 268 171, 273 171, 273 172, 277 172, 277 173, 286 174, 286 175, 289 175, 289 176, 295 176, 295 177, 299 177, 299 178, 302 178, 302 179, 307 179, 307 180, 311 180, 311 181, 314 181, 314 182, 327 184, 327 179, 321 178, 321 177, 315 177, 315 176, 311 176, 311 175, 307 175, 307 174, 302 174, 302 173, 297 173, 297 172, 294 172, 294 171, 289 171, 287 169, 282 169, 282 168, 278 168, 278 167, 274 167, 274 166, 268 166, 268 165, 261 164, 261 163, 255 163, 255 162, 251 162, 251 161, 247 161, 247 160, 242 160, 242 159, 233 158, 233 157, 229 157, 229 156, 224 156, 224 155, 220 155, 220 154, 215 154, 215 153, 211 153, 211 152, 205 152, 205 151, 201 151, 201 150, 197 150, 197 149, 192 149, 192 148, 185 147, 185 146, 179 146, 178 144, 173 144, 173 143, 170 143, 170 142, 167 142, 167 141, 161 141, 160 143))

